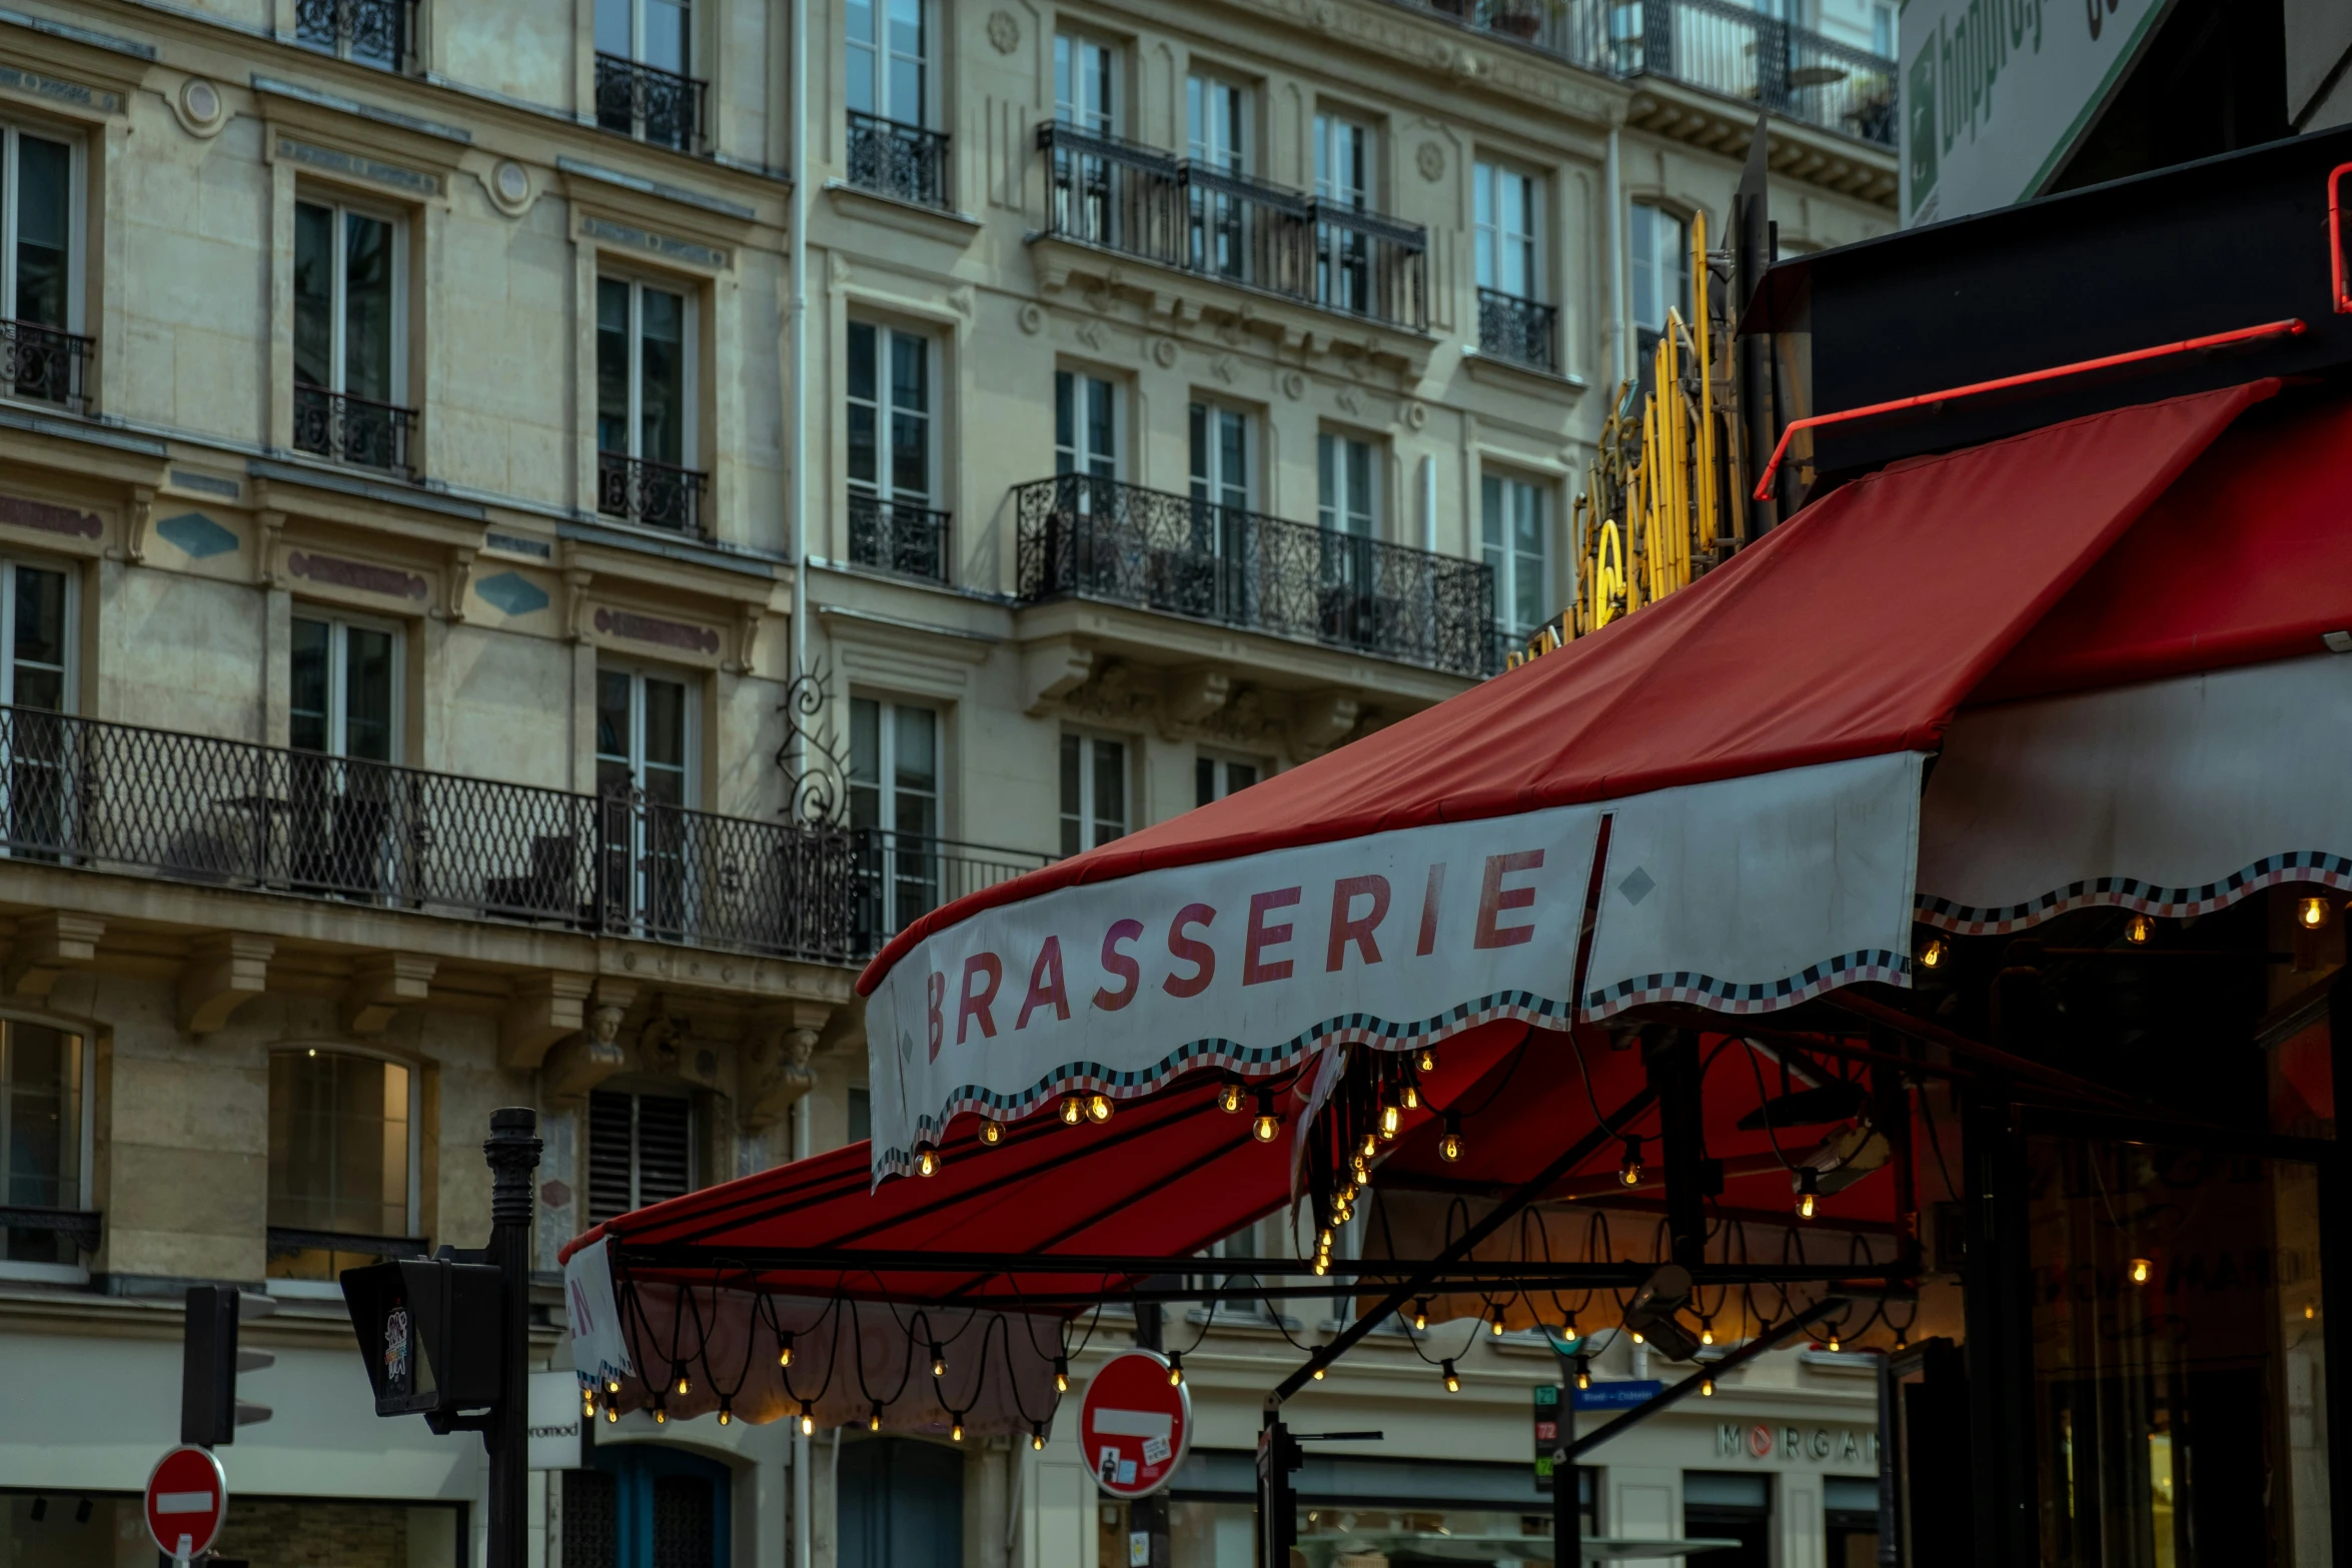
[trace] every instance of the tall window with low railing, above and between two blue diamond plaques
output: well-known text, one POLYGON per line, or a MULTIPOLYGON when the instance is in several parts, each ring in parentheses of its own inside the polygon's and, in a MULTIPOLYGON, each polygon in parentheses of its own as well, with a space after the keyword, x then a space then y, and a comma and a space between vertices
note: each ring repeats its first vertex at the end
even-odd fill
POLYGON ((294 444, 405 468, 407 259, 402 221, 294 202, 294 444))

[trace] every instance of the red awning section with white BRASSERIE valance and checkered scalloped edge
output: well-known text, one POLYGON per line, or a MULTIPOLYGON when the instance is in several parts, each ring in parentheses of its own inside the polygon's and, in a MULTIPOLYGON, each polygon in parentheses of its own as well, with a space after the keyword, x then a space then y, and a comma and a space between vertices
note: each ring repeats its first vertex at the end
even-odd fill
POLYGON ((873 1178, 957 1114, 1018 1121, 1070 1091, 1905 985, 1926 757, 2272 393, 1870 475, 1639 616, 927 914, 858 983, 873 1178))

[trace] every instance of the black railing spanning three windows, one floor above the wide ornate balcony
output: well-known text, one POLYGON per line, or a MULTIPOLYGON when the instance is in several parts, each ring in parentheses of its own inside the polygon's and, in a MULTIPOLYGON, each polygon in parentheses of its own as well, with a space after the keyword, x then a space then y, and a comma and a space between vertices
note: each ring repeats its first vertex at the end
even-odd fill
POLYGON ((1047 233, 1423 331, 1428 230, 1073 125, 1037 127, 1047 233))

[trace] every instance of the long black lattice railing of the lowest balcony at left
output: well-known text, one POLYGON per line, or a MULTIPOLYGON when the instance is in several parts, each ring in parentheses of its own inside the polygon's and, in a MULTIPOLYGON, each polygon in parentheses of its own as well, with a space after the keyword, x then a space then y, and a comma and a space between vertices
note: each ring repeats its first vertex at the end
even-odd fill
POLYGON ((0 856, 696 947, 861 957, 847 827, 0 708, 0 856))

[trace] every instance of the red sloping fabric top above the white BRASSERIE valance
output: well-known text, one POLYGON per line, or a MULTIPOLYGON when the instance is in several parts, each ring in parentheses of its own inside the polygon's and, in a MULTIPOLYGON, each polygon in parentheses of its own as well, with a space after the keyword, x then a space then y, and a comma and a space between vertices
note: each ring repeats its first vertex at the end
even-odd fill
POLYGON ((1978 682, 2274 381, 1870 475, 1691 588, 1355 745, 924 914, 1080 882, 1931 750, 1978 682))

